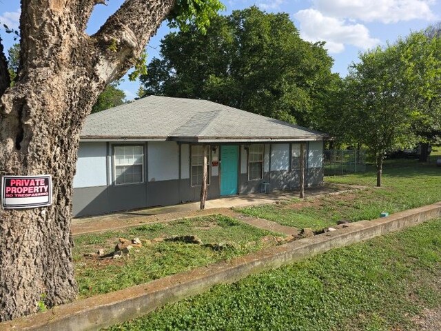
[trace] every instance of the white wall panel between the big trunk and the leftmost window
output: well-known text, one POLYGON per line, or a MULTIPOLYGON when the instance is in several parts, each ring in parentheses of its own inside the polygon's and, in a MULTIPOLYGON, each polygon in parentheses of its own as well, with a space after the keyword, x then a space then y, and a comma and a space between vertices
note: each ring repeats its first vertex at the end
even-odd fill
POLYGON ((107 185, 106 143, 80 143, 74 188, 107 185))

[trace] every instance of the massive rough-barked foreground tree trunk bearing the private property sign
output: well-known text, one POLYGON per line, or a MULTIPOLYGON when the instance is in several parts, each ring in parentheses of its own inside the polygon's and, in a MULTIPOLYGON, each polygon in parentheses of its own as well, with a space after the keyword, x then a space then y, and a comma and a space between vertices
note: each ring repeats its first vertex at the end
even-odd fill
POLYGON ((174 6, 127 0, 88 36, 102 2, 21 0, 21 66, 6 90, 0 52, 0 176, 52 174, 53 181, 51 206, 0 210, 0 321, 36 312, 42 294, 49 306, 76 297, 70 223, 81 128, 105 85, 133 65, 174 6))

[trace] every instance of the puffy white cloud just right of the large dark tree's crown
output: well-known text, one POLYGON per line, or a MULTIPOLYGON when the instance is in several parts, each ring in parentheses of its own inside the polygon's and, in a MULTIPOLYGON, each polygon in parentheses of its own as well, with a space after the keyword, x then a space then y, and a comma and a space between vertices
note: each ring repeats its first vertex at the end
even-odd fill
POLYGON ((326 41, 325 48, 331 53, 342 52, 345 44, 367 49, 380 43, 380 40, 370 37, 369 30, 362 24, 325 17, 315 9, 300 10, 294 17, 300 21, 300 35, 303 39, 326 41))

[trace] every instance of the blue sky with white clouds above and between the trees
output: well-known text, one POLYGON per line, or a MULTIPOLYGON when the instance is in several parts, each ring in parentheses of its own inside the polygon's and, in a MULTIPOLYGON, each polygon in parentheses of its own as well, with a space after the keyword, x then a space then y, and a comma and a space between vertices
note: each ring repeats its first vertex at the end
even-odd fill
MULTIPOLYGON (((123 0, 107 0, 107 6, 97 5, 88 25, 92 34, 115 12, 123 0)), ((358 54, 387 41, 396 41, 411 31, 422 30, 441 21, 441 0, 223 0, 227 9, 240 10, 258 6, 266 12, 287 12, 300 37, 307 41, 326 41, 325 48, 334 58, 333 72, 341 77, 348 66, 358 61, 358 54)), ((19 28, 20 1, 0 0, 0 36, 6 50, 14 43, 3 24, 19 28)), ((148 59, 159 57, 161 39, 170 32, 163 23, 147 46, 148 59)), ((129 81, 127 75, 119 88, 126 99, 136 97, 139 81, 129 81)))

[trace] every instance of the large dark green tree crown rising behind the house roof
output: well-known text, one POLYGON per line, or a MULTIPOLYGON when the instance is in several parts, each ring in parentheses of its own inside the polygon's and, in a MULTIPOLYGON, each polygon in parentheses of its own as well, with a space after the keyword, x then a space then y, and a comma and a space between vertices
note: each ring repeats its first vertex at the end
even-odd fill
POLYGON ((323 43, 300 39, 288 14, 256 7, 217 16, 206 33, 190 25, 167 34, 162 59, 141 76, 145 95, 208 99, 314 127, 333 60, 323 43))

